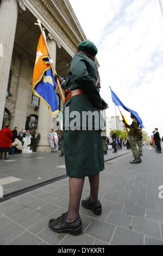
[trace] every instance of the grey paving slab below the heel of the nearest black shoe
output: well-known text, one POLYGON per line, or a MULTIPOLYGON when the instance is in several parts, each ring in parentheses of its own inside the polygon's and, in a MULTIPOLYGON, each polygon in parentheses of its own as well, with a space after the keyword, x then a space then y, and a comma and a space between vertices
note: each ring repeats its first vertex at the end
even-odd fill
POLYGON ((95 241, 95 238, 87 236, 85 234, 80 235, 80 239, 78 236, 72 236, 68 234, 64 240, 60 243, 60 245, 92 245, 95 241))

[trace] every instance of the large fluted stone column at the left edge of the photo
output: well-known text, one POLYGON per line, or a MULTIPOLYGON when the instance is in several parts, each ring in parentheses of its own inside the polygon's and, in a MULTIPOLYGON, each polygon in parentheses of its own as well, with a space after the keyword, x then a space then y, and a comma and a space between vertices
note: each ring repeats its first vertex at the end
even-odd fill
POLYGON ((0 45, 3 57, 0 57, 0 129, 3 122, 5 99, 8 88, 12 51, 14 47, 18 7, 16 0, 2 0, 0 4, 0 45))

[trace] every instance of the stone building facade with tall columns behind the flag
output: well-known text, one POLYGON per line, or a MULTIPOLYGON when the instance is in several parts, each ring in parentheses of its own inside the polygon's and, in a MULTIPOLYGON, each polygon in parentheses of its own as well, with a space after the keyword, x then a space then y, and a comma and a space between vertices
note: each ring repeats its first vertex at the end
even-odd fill
MULTIPOLYGON (((40 19, 57 73, 65 77, 76 46, 86 36, 68 0, 0 0, 0 128, 38 129, 38 151, 50 151, 47 135, 52 116, 33 95, 32 76, 40 19), (2 54, 3 53, 3 54, 2 54), (3 56, 3 57, 2 57, 3 56)), ((59 107, 63 103, 57 92, 59 107)))

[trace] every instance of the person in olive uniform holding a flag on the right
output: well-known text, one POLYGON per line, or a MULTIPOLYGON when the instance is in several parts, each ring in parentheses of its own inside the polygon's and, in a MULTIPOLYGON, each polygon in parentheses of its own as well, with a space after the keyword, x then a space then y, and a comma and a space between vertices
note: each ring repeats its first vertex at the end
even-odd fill
POLYGON ((134 156, 133 162, 130 162, 130 163, 141 163, 139 151, 137 150, 137 147, 136 147, 136 135, 138 132, 137 128, 139 127, 139 123, 133 114, 131 114, 131 119, 133 119, 133 122, 131 125, 128 125, 123 119, 123 123, 126 123, 126 126, 130 129, 129 131, 130 148, 134 156))

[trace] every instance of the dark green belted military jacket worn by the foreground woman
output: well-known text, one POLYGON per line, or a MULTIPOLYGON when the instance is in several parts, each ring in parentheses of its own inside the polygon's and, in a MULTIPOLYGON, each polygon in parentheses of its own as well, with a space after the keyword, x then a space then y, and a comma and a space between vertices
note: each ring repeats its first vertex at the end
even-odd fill
POLYGON ((99 95, 100 83, 96 86, 97 79, 98 69, 96 63, 84 53, 77 52, 72 59, 70 70, 65 78, 65 82, 62 83, 62 88, 70 88, 70 90, 82 89, 85 94, 73 96, 66 101, 63 120, 63 128, 65 130, 72 129, 74 126, 72 120, 76 116, 73 115, 75 114, 73 111, 80 114, 80 124, 78 124, 80 127, 77 127, 77 130, 80 130, 80 128, 89 130, 91 127, 95 130, 100 130, 96 129, 101 116, 99 109, 101 103, 101 96, 99 95), (85 125, 82 119, 82 113, 87 111, 90 111, 90 114, 96 111, 96 118, 92 118, 92 120, 91 118, 87 118, 85 125), (67 119, 68 115, 69 120, 67 119))

